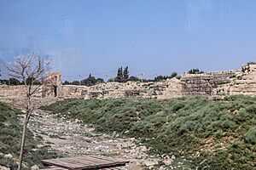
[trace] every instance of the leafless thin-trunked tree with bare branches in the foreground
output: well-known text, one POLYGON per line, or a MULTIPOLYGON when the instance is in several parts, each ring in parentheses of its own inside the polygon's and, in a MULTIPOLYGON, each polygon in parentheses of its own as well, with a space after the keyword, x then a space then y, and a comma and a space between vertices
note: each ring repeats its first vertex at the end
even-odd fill
POLYGON ((14 60, 13 64, 6 65, 9 76, 15 77, 24 82, 26 88, 26 96, 25 96, 25 111, 26 116, 23 122, 23 131, 22 138, 20 144, 20 157, 19 157, 19 166, 18 170, 21 169, 22 161, 23 161, 23 150, 25 147, 25 139, 26 139, 26 127, 29 122, 30 116, 35 109, 35 105, 32 104, 32 96, 38 92, 40 86, 43 84, 45 79, 45 68, 49 65, 49 63, 45 63, 44 60, 38 56, 37 54, 28 54, 23 57, 17 57, 14 60), (34 85, 34 82, 37 85, 34 85))

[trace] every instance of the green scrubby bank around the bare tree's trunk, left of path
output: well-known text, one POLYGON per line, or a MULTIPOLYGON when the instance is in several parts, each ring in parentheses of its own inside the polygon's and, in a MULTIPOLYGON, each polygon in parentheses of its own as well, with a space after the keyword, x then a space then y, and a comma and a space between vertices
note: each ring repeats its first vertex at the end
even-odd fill
MULTIPOLYGON (((18 167, 16 161, 19 158, 22 135, 22 125, 18 119, 19 114, 20 111, 0 103, 0 165, 10 169, 17 169, 18 167), (20 122, 20 124, 17 122, 20 122), (4 157, 7 154, 11 154, 13 158, 4 157)), ((42 159, 59 156, 55 151, 50 150, 47 145, 39 148, 38 144, 42 144, 41 140, 39 136, 34 136, 32 132, 27 131, 23 162, 26 167, 31 167, 35 164, 43 167, 41 164, 42 159)))

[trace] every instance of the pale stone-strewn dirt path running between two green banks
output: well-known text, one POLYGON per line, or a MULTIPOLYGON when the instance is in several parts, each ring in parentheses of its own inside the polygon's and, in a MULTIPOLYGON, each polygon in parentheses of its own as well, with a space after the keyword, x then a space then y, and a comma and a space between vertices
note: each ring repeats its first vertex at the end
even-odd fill
POLYGON ((146 154, 146 147, 133 138, 120 138, 118 134, 97 133, 93 127, 56 117, 48 111, 37 110, 31 117, 29 128, 43 137, 45 144, 68 156, 102 155, 124 158, 132 163, 125 169, 166 169, 154 167, 162 158, 146 154))

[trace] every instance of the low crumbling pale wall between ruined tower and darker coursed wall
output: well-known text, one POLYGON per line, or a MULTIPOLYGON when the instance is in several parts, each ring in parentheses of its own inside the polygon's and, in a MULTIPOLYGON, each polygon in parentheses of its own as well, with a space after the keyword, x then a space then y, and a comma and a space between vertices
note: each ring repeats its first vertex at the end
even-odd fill
POLYGON ((164 82, 108 82, 95 86, 63 85, 60 97, 109 99, 123 97, 174 98, 181 97, 181 82, 176 78, 164 82))

